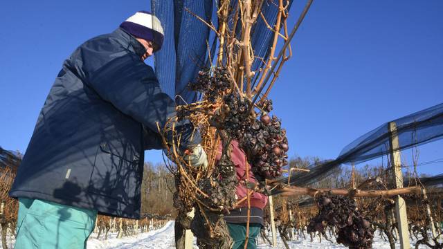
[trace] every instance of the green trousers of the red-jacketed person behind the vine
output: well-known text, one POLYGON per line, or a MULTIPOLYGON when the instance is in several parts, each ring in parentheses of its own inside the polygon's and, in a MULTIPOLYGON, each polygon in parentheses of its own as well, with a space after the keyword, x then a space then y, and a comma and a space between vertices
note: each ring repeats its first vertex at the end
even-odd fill
MULTIPOLYGON (((246 241, 246 223, 227 223, 229 229, 229 235, 234 240, 233 249, 243 249, 244 242, 246 241)), ((248 249, 257 248, 257 235, 260 234, 260 228, 262 224, 250 223, 249 224, 249 238, 248 249)))

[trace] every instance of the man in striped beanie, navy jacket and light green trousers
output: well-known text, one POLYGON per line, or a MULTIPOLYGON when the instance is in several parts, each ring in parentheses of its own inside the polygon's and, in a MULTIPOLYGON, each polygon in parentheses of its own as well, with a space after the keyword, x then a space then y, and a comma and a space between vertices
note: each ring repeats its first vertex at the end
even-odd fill
MULTIPOLYGON (((16 249, 85 248, 97 213, 140 217, 144 150, 163 148, 157 124, 175 115, 143 62, 162 43, 159 19, 137 12, 66 59, 10 191, 19 199, 16 249)), ((192 129, 176 124, 182 151, 201 165, 192 129)))

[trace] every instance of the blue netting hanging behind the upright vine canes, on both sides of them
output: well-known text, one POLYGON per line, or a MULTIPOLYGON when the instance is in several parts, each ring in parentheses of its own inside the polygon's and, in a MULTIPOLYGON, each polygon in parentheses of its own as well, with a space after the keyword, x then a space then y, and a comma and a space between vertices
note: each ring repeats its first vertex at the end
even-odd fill
MULTIPOLYGON (((211 65, 208 55, 211 55, 211 60, 215 61, 218 46, 215 33, 185 9, 195 13, 208 24, 214 24, 218 29, 216 14, 218 2, 215 0, 151 0, 152 12, 160 19, 165 33, 162 49, 154 55, 156 76, 163 91, 174 98, 177 104, 198 100, 199 95, 187 88, 188 83, 195 80, 201 68, 211 65), (180 98, 176 98, 176 95, 180 95, 180 98)), ((231 14, 228 16, 230 29, 233 28, 233 13, 237 8, 236 4, 236 0, 230 3, 231 14)), ((288 11, 289 8, 291 4, 287 8, 288 11)), ((277 18, 278 3, 272 0, 264 1, 261 11, 266 21, 272 25, 277 18)), ((239 26, 239 23, 237 25, 239 26)), ((237 27, 236 30, 241 29, 237 27)), ((240 33, 237 32, 236 36, 239 38, 240 33)), ((251 44, 256 57, 252 66, 253 71, 262 67, 262 61, 266 61, 269 57, 272 40, 273 32, 260 17, 257 18, 251 30, 251 44)))

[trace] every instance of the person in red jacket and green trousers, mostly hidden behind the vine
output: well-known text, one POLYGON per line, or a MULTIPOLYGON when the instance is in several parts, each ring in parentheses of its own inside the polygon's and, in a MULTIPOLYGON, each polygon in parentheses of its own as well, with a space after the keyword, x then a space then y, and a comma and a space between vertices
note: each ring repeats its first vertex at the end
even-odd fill
MULTIPOLYGON (((235 195, 238 200, 243 200, 237 205, 237 208, 230 210, 229 214, 224 216, 224 220, 228 225, 230 237, 233 238, 233 249, 243 249, 244 243, 246 243, 246 224, 248 222, 248 202, 245 199, 247 188, 245 185, 246 180, 246 164, 248 165, 248 182, 257 183, 252 167, 247 163, 246 155, 244 151, 240 149, 237 140, 230 142, 230 160, 235 165, 235 172, 237 174, 237 180, 239 181, 235 190, 235 195)), ((221 158, 222 147, 219 146, 216 159, 221 158)), ((254 192, 250 197, 250 215, 249 215, 249 231, 248 231, 248 249, 257 248, 257 235, 260 234, 260 229, 263 225, 263 209, 266 206, 268 197, 264 194, 254 192)))

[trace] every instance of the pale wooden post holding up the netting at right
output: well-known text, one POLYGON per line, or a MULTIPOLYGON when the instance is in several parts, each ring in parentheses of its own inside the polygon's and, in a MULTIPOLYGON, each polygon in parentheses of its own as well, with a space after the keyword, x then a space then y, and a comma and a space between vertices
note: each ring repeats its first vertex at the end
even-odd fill
MULTIPOLYGON (((392 165, 392 175, 394 177, 395 188, 403 187, 403 174, 401 173, 401 158, 399 151, 399 137, 395 122, 388 123, 390 131, 390 163, 392 165)), ((406 214, 406 203, 401 196, 395 196, 395 212, 399 230, 399 240, 401 249, 409 249, 408 215, 406 214)))

